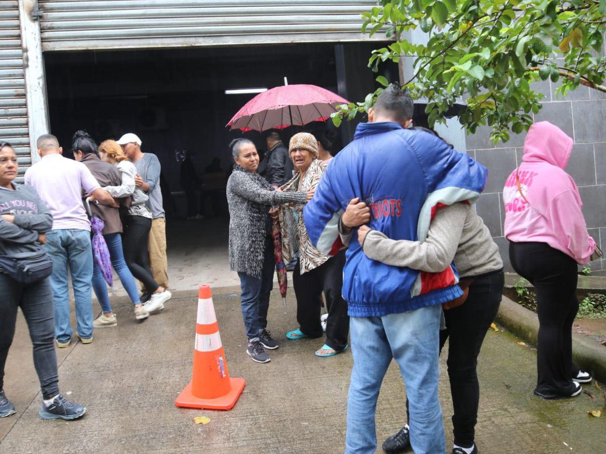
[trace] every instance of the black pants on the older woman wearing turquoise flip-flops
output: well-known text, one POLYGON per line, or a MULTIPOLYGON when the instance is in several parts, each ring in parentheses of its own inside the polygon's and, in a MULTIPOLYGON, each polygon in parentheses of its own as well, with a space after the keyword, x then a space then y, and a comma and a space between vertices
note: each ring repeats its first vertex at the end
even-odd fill
POLYGON ((322 291, 326 296, 326 344, 331 349, 342 350, 347 346, 349 316, 347 303, 341 296, 345 249, 327 262, 304 274, 299 260, 293 272, 293 286, 297 297, 297 321, 299 329, 308 337, 321 337, 320 311, 322 291))

